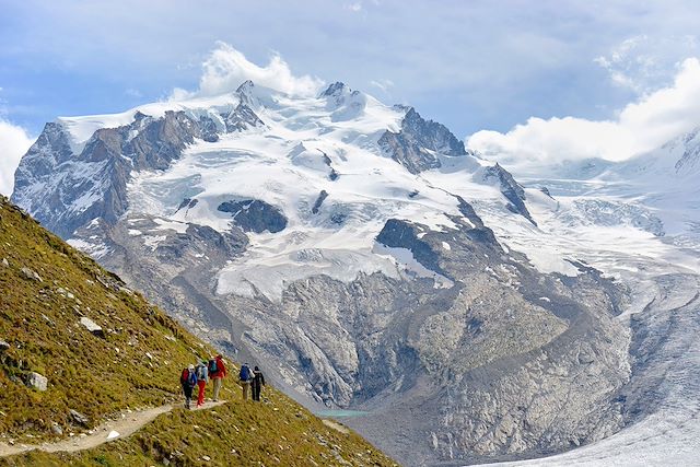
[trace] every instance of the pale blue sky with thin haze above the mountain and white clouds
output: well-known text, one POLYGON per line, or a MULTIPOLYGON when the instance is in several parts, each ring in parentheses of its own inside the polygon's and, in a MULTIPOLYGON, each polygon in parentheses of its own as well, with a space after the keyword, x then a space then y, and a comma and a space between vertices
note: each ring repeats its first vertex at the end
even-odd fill
POLYGON ((411 104, 459 138, 614 119, 673 85, 699 55, 699 20, 680 0, 0 0, 0 122, 32 138, 57 116, 197 89, 218 40, 411 104))

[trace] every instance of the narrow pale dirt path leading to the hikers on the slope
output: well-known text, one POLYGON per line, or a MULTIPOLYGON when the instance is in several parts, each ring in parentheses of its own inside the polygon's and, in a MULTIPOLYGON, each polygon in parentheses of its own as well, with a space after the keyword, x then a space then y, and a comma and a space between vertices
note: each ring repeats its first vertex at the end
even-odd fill
MULTIPOLYGON (((205 402, 203 407, 192 410, 211 409, 212 407, 225 404, 225 400, 217 402, 205 402)), ((47 453, 72 453, 75 451, 90 450, 110 441, 127 437, 139 431, 147 423, 152 422, 158 416, 173 410, 172 405, 154 407, 152 409, 124 413, 121 420, 109 420, 92 430, 92 434, 83 433, 67 440, 57 441, 55 443, 43 444, 15 444, 0 443, 0 457, 13 456, 15 454, 26 453, 28 451, 40 450, 47 453)))

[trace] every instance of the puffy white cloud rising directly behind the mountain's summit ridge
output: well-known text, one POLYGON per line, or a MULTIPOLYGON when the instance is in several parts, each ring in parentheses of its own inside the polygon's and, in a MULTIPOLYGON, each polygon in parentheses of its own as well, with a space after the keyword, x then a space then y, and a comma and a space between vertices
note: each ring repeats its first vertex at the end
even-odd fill
POLYGON ((272 55, 267 66, 259 67, 231 45, 219 42, 202 63, 199 89, 194 93, 175 89, 171 98, 223 94, 235 91, 246 80, 291 95, 315 95, 324 84, 307 74, 295 77, 278 54, 272 55))

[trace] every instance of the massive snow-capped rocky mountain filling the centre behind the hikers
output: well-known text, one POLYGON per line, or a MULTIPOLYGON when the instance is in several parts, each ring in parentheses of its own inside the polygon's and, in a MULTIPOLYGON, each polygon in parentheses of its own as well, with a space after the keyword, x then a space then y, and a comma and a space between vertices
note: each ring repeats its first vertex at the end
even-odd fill
POLYGON ((310 97, 245 82, 48 124, 13 200, 420 465, 563 451, 627 422, 619 316, 640 302, 625 271, 676 250, 653 206, 578 183, 522 185, 342 83, 310 97))

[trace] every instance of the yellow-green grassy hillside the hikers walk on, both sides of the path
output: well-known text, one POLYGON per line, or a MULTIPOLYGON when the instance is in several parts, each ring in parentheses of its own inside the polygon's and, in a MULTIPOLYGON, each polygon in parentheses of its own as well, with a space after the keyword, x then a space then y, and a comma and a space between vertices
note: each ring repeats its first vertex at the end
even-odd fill
MULTIPOLYGON (((79 433, 69 409, 91 427, 127 408, 179 400, 180 369, 214 350, 139 293, 103 270, 0 197, 0 441, 50 440, 51 425, 79 433), (27 279, 26 267, 42 281, 27 279), (63 291, 59 290, 62 289, 63 291), (74 297, 71 297, 71 295, 74 297), (88 316, 106 331, 93 336, 88 316), (22 381, 48 377, 48 390, 22 381)), ((232 378, 228 405, 211 411, 177 409, 127 440, 75 454, 28 453, 10 465, 393 465, 358 435, 328 429, 279 392, 267 402, 243 402, 232 378), (233 390, 236 389, 236 390, 233 390), (340 456, 340 457, 339 457, 340 456), (342 459, 342 460, 341 460, 342 459)))

